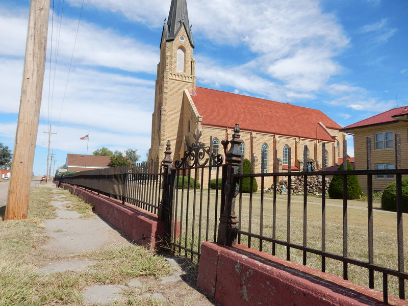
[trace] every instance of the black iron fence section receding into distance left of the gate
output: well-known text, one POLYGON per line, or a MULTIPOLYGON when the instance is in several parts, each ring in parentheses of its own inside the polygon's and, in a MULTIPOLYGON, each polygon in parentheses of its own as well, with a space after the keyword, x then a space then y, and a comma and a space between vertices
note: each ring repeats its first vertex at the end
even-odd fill
POLYGON ((153 214, 158 214, 162 180, 158 162, 81 171, 60 177, 60 182, 92 190, 153 214))

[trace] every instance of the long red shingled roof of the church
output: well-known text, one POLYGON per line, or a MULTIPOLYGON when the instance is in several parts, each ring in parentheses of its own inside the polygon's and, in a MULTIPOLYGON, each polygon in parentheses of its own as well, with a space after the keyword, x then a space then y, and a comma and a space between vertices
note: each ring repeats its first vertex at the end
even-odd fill
POLYGON ((234 127, 242 130, 334 141, 323 129, 341 126, 319 110, 197 87, 191 93, 203 125, 234 127))

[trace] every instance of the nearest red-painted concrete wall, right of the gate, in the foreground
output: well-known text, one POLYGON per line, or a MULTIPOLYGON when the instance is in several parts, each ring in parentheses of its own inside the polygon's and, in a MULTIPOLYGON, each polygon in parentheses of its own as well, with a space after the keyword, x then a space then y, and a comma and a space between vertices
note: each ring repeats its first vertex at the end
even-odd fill
POLYGON ((222 306, 386 305, 378 291, 241 245, 203 242, 198 285, 222 306))

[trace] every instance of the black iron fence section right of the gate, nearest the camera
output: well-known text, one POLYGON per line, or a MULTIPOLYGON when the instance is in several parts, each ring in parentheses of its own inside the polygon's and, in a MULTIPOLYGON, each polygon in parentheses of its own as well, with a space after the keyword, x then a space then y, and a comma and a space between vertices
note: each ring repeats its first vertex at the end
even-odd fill
MULTIPOLYGON (((343 148, 343 164, 346 165, 345 141, 343 148)), ((388 303, 389 278, 395 277, 396 279, 393 279, 392 285, 397 287, 395 291, 398 293, 399 298, 405 299, 408 273, 404 271, 404 262, 406 264, 408 258, 406 253, 404 258, 402 207, 407 204, 404 204, 402 201, 401 181, 402 176, 408 174, 408 169, 401 169, 399 134, 395 137, 395 150, 395 164, 397 169, 393 170, 371 170, 371 138, 368 138, 367 170, 325 171, 325 162, 322 161, 322 171, 291 172, 291 166, 289 165, 288 172, 276 171, 273 173, 234 174, 234 184, 239 186, 239 203, 238 216, 232 213, 231 217, 233 219, 237 218, 238 222, 235 226, 233 224, 234 222, 231 223, 230 231, 237 235, 238 244, 246 244, 248 247, 258 248, 260 251, 271 253, 274 256, 282 257, 289 261, 300 261, 303 265, 321 269, 323 272, 326 272, 328 269, 329 272, 338 274, 340 270, 344 279, 350 279, 350 266, 359 267, 352 268, 352 274, 354 275, 352 275, 351 281, 355 282, 356 274, 361 274, 366 271, 368 287, 371 289, 376 287, 376 289, 381 290, 382 285, 384 302, 386 303, 388 303), (331 210, 330 215, 326 213, 326 193, 324 192, 326 189, 325 177, 333 175, 341 175, 343 179, 342 202, 337 207, 337 209, 341 209, 341 213, 337 212, 336 214, 338 220, 333 220, 332 214, 334 209, 331 210), (350 208, 347 200, 347 178, 350 175, 357 175, 358 177, 366 176, 368 182, 367 208, 359 208, 366 211, 365 220, 356 220, 354 217, 352 224, 349 222, 350 208), (397 236, 396 241, 387 243, 387 245, 376 245, 377 251, 375 251, 374 248, 374 233, 376 228, 373 224, 372 179, 374 175, 395 175, 397 193, 395 223, 394 225, 389 224, 390 227, 394 226, 396 228, 396 235, 394 235, 397 236), (284 198, 279 198, 277 194, 277 183, 278 177, 282 176, 287 176, 287 195, 284 198), (299 197, 294 199, 291 194, 290 182, 294 176, 303 177, 302 199, 299 199, 299 197), (315 202, 318 199, 317 197, 314 198, 313 204, 310 203, 310 199, 308 200, 307 181, 311 176, 321 177, 323 192, 321 193, 320 203, 315 202), (250 180, 250 190, 252 190, 254 180, 261 180, 261 191, 264 190, 265 179, 272 178, 273 196, 269 197, 263 192, 261 192, 259 196, 253 195, 252 192, 248 196, 243 195, 242 181, 245 178, 250 180), (317 212, 316 205, 320 206, 320 213, 317 212), (308 212, 311 206, 314 206, 311 212, 312 214, 308 212), (319 214, 319 216, 316 216, 316 213, 319 214), (331 218, 330 222, 326 221, 327 217, 331 218), (365 223, 367 226, 365 233, 362 235, 365 236, 364 239, 362 239, 361 236, 353 236, 356 234, 361 235, 361 232, 355 231, 354 228, 355 226, 360 226, 361 223, 365 223), (330 228, 330 233, 327 232, 328 224, 332 227, 330 228), (336 224, 336 226, 333 226, 333 224, 336 224), (352 232, 350 233, 350 231, 352 232), (333 237, 333 235, 338 236, 333 237), (338 239, 339 236, 340 239, 338 239), (361 247, 361 244, 364 245, 363 252, 357 250, 359 246, 361 247), (352 248, 350 248, 350 246, 352 246, 352 248), (381 258, 378 249, 381 250, 382 248, 388 247, 395 248, 395 253, 392 258, 385 259, 384 256, 381 258), (376 255, 378 258, 375 257, 376 255), (330 260, 329 268, 327 268, 327 260, 330 260), (342 267, 340 269, 337 269, 339 268, 337 263, 341 263, 342 267), (378 274, 374 275, 375 273, 378 274), (381 278, 382 282, 380 282, 381 278)), ((322 147, 322 151, 324 151, 324 146, 322 147)), ((307 165, 306 160, 304 160, 304 165, 307 165)), ((306 169, 307 168, 305 168, 305 170, 306 169)), ((355 211, 355 208, 353 208, 353 210, 355 211)), ((379 219, 379 217, 377 217, 377 219, 379 219)), ((231 245, 234 243, 235 241, 233 241, 231 245)), ((406 244, 407 241, 405 241, 405 248, 406 244)), ((396 293, 395 291, 394 293, 396 293)))

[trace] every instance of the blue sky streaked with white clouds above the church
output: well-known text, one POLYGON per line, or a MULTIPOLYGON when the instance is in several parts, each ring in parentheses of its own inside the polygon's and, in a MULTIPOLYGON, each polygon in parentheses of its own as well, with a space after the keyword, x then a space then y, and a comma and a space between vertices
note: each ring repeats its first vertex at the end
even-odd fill
MULTIPOLYGON (((156 68, 171 0, 52 0, 33 171, 49 124, 67 153, 150 146, 156 68), (53 14, 54 12, 54 14, 53 14), (54 16, 53 16, 54 15, 54 16), (53 26, 52 26, 53 25, 53 26), (73 54, 73 56, 72 56, 73 54), (68 77, 72 57, 72 67, 68 77)), ((187 0, 197 86, 320 109, 342 126, 408 105, 406 0, 187 0)), ((14 146, 28 0, 0 0, 0 141, 14 146)), ((296 118, 293 118, 296 120, 296 118)), ((349 138, 352 140, 352 138, 349 138)), ((349 154, 353 156, 352 141, 349 154)))

